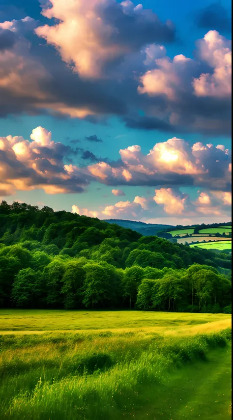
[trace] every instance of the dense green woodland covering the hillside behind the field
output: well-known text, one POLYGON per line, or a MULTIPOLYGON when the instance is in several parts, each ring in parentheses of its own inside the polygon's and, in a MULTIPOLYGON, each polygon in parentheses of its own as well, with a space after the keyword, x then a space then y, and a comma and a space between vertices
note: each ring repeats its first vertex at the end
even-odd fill
POLYGON ((230 268, 225 253, 46 206, 0 204, 3 307, 229 312, 230 268))

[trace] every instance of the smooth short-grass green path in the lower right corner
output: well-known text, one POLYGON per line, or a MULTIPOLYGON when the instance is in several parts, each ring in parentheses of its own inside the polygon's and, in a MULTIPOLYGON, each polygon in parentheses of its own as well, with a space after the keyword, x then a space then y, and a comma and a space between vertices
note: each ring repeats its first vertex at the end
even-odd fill
POLYGON ((138 420, 230 420, 231 348, 210 352, 207 364, 174 369, 164 377, 164 387, 146 390, 143 399, 147 403, 137 407, 138 420))

